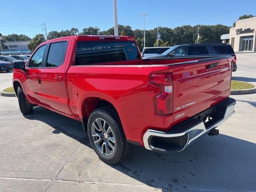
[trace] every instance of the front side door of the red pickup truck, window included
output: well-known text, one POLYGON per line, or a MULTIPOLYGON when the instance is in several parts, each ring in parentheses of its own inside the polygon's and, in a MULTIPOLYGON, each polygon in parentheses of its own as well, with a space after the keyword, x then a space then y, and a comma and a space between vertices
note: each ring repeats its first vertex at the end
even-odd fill
POLYGON ((27 79, 23 82, 24 90, 28 101, 42 104, 42 88, 40 84, 40 74, 42 63, 44 63, 44 53, 46 46, 43 45, 32 55, 26 66, 27 79))

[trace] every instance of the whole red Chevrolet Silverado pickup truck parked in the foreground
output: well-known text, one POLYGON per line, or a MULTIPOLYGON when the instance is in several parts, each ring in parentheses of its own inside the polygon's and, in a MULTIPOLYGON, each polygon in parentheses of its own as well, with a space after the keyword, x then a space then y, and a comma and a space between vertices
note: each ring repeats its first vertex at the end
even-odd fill
POLYGON ((130 143, 179 152, 234 113, 232 56, 142 59, 130 36, 69 36, 14 62, 22 114, 42 106, 82 122, 99 158, 118 163, 130 143))

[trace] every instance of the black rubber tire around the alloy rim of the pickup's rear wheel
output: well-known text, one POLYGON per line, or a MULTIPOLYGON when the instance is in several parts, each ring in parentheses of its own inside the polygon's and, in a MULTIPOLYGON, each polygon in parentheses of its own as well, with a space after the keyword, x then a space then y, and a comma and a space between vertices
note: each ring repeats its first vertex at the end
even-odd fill
MULTIPOLYGON (((126 141, 124 130, 114 110, 111 110, 106 107, 101 107, 94 110, 90 114, 87 130, 88 130, 88 136, 89 136, 92 148, 94 149, 94 151, 96 152, 100 160, 110 164, 116 164, 124 160, 124 158, 126 157, 126 154, 128 153, 129 143, 126 141), (106 124, 108 124, 111 127, 111 131, 112 131, 111 134, 112 136, 114 136, 115 142, 114 142, 114 150, 110 155, 103 154, 94 143, 94 138, 92 136, 92 130, 93 130, 92 124, 96 121, 96 119, 102 119, 106 121, 106 124)), ((104 139, 105 138, 102 138, 102 140, 104 139)), ((105 143, 109 142, 108 138, 106 139, 105 139, 105 143)), ((106 145, 105 145, 105 149, 106 149, 106 145)))

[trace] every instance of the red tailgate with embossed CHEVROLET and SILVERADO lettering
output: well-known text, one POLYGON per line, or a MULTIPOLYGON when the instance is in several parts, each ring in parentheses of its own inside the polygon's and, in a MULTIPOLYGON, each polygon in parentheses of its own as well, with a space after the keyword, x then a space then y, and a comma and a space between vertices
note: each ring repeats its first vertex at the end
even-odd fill
MULTIPOLYGON (((174 64, 174 115, 177 124, 228 98, 232 57, 174 64)), ((209 114, 205 114, 207 118, 209 114)))

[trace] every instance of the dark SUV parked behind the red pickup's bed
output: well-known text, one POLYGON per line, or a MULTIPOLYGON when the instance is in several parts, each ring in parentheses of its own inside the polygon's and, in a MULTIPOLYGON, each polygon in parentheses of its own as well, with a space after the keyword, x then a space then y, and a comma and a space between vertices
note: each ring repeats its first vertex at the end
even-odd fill
POLYGON ((166 58, 166 57, 188 57, 188 56, 223 56, 230 55, 233 58, 233 70, 236 71, 236 55, 231 45, 228 44, 217 44, 217 43, 209 43, 209 44, 186 44, 186 45, 176 45, 161 55, 158 56, 149 56, 144 57, 146 59, 151 58, 166 58))

